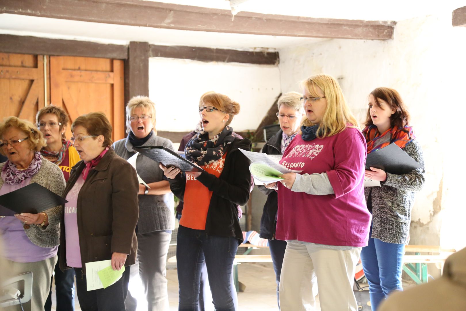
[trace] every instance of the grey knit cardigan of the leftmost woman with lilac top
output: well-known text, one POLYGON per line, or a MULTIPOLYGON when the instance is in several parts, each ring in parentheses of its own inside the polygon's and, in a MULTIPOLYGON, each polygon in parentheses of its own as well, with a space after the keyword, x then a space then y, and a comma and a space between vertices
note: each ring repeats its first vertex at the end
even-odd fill
MULTIPOLYGON (((62 170, 54 163, 44 159, 41 156, 41 168, 31 178, 30 183, 38 183, 46 187, 48 190, 62 196, 65 190, 65 179, 63 178, 62 170)), ((3 169, 5 163, 0 164, 0 171, 3 169)), ((0 188, 3 186, 3 179, 0 178, 0 188)), ((24 229, 27 238, 35 245, 40 247, 54 247, 60 244, 60 219, 62 217, 63 206, 49 208, 45 211, 48 216, 48 226, 41 228, 35 225, 29 226, 24 229)), ((0 218, 1 221, 1 218, 0 218)))

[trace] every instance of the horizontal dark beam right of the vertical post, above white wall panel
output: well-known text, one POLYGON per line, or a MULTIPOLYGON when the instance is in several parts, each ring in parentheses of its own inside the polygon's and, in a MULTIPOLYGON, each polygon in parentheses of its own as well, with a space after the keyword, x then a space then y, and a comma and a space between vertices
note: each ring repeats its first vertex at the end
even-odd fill
POLYGON ((242 62, 259 65, 277 65, 278 52, 238 51, 221 48, 151 45, 151 57, 192 59, 200 62, 242 62))

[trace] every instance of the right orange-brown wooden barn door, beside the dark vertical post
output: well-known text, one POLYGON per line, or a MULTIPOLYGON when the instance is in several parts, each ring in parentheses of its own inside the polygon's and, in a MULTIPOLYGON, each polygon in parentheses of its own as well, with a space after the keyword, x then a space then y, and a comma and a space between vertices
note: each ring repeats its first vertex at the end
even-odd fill
MULTIPOLYGON (((50 56, 50 103, 62 106, 71 122, 102 111, 113 126, 112 139, 124 138, 123 61, 108 58, 50 56)), ((71 137, 71 123, 66 137, 71 137)))

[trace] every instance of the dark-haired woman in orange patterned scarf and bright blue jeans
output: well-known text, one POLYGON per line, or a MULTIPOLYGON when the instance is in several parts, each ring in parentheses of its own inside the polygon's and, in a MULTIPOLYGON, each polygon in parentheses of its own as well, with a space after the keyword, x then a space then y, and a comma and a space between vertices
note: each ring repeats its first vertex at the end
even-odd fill
POLYGON ((372 213, 369 245, 361 260, 369 283, 372 310, 394 290, 403 290, 401 271, 404 245, 408 243, 414 192, 424 186, 422 148, 409 126, 409 113, 396 90, 377 88, 369 95, 366 128, 367 152, 392 143, 416 160, 420 168, 396 175, 370 167, 365 177, 380 181, 381 187, 365 187, 367 207, 372 213))

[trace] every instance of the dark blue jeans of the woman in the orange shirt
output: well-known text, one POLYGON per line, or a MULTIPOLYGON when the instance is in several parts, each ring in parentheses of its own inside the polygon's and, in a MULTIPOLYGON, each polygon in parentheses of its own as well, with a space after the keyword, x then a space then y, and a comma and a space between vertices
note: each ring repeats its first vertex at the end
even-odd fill
POLYGON ((206 262, 215 310, 234 311, 230 277, 238 240, 233 236, 207 235, 205 230, 179 226, 177 268, 180 311, 197 311, 202 264, 206 262))

